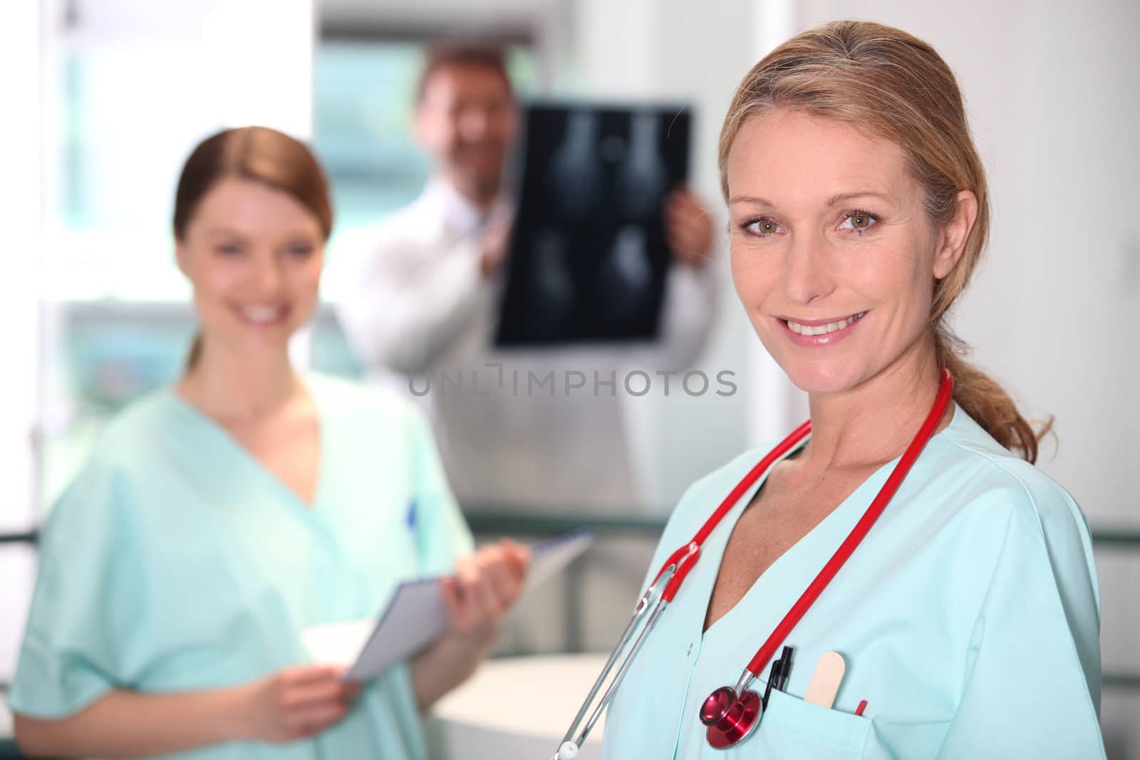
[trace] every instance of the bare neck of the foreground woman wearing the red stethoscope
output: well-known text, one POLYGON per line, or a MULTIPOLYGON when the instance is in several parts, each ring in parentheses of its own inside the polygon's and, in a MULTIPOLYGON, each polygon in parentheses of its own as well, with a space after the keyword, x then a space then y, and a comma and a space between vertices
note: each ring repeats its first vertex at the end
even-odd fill
MULTIPOLYGON (((812 439, 801 460, 823 472, 879 466, 901 456, 930 412, 938 384, 934 341, 926 336, 858 386, 811 394, 812 439)), ((952 416, 947 407, 936 431, 952 416)))

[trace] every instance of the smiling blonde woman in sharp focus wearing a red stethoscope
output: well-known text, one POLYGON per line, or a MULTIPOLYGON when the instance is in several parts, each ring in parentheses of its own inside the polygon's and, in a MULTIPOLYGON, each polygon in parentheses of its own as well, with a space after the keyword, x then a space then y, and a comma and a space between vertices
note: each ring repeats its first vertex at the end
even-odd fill
MULTIPOLYGON (((618 690, 604 757, 1104 758, 1085 518, 1033 466, 1037 435, 946 324, 990 223, 950 68, 895 28, 805 32, 744 76, 719 158, 736 292, 807 392, 813 434, 705 544, 618 690), (706 696, 736 683, 847 538, 929 414, 942 367, 953 402, 784 639, 784 690, 752 735, 711 749, 706 696), (804 698, 828 652, 846 661, 830 708, 804 698)), ((689 489, 653 574, 771 448, 689 489)))

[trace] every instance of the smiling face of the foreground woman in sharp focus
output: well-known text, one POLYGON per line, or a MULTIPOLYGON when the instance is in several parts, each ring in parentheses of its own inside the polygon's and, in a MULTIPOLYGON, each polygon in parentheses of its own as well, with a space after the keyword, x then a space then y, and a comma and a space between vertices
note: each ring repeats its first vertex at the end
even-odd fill
POLYGON ((934 279, 961 245, 929 222, 898 146, 776 111, 740 129, 727 179, 736 293, 798 387, 845 391, 933 350, 934 279))

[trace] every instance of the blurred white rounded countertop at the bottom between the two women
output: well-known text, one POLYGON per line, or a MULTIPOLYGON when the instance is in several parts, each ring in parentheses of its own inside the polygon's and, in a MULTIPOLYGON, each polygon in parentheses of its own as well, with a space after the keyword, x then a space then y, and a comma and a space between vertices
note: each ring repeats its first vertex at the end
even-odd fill
MULTIPOLYGON (((605 654, 504 657, 483 663, 426 720, 433 760, 546 760, 605 664, 605 654)), ((578 754, 602 754, 605 717, 578 754)))

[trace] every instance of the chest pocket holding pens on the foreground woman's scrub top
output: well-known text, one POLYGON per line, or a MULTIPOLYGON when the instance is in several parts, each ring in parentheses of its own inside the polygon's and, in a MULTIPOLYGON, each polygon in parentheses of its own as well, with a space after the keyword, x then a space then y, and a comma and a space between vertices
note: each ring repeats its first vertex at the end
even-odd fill
POLYGON ((751 736, 728 750, 714 750, 705 739, 705 726, 692 716, 687 747, 678 760, 857 760, 863 757, 871 720, 773 690, 768 710, 751 736))

